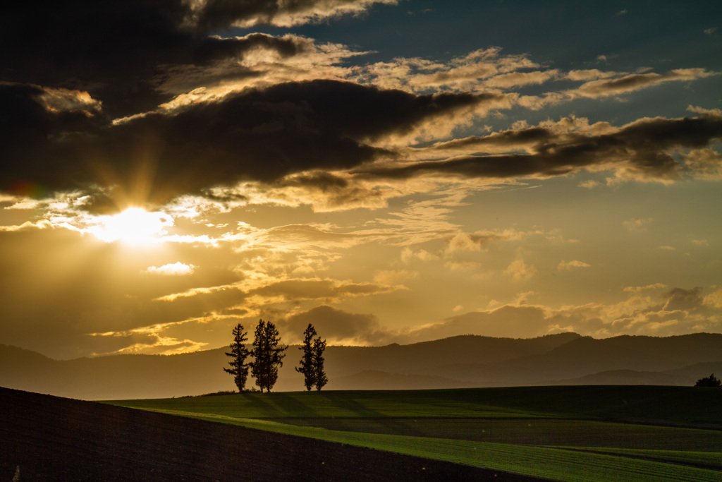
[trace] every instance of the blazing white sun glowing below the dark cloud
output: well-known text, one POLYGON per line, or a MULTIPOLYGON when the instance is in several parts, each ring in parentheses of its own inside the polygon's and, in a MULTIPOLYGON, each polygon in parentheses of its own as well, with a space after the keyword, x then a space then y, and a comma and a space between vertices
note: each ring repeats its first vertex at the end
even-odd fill
POLYGON ((103 241, 120 241, 133 246, 160 243, 173 225, 173 218, 162 212, 148 212, 142 207, 129 207, 116 215, 103 216, 90 231, 103 241))

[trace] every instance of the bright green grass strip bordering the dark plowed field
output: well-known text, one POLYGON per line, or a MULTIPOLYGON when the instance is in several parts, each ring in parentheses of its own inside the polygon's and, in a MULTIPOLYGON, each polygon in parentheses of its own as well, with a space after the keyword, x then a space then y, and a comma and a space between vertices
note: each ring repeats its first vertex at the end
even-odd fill
POLYGON ((721 475, 720 470, 722 470, 722 456, 718 453, 534 447, 520 444, 330 431, 269 420, 203 416, 198 413, 168 411, 165 413, 193 416, 251 429, 371 447, 558 481, 712 481, 718 480, 721 475), (704 467, 698 468, 690 465, 704 465, 704 467), (630 478, 632 474, 633 479, 630 478))

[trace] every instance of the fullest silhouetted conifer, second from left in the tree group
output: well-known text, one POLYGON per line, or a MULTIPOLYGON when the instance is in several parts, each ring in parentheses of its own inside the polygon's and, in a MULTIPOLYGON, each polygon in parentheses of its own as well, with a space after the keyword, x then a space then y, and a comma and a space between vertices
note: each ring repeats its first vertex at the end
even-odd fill
POLYGON ((253 339, 253 350, 251 355, 251 374, 256 378, 256 385, 264 391, 271 391, 278 379, 279 366, 283 366, 283 357, 287 346, 280 345, 281 335, 276 325, 271 322, 258 321, 256 333, 253 339))

